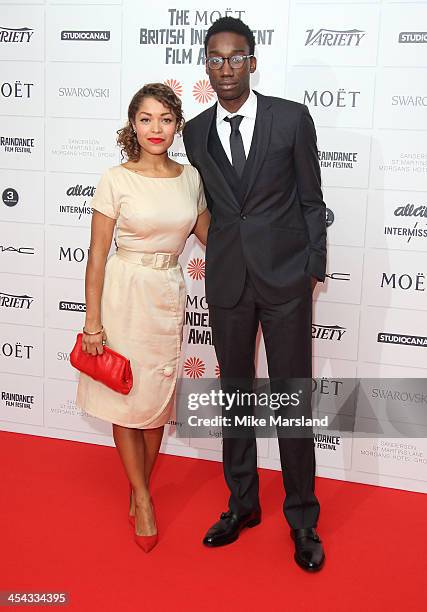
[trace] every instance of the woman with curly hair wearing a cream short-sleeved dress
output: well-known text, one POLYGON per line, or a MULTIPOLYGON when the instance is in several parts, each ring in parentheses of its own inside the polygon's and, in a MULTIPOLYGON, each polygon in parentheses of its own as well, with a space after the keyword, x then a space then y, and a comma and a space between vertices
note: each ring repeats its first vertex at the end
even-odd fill
POLYGON ((101 177, 92 200, 83 350, 103 342, 131 361, 133 388, 122 395, 81 374, 77 404, 110 421, 131 485, 136 542, 157 542, 149 478, 173 407, 182 342, 185 286, 178 256, 193 231, 206 243, 209 213, 200 176, 168 157, 183 124, 166 85, 133 97, 118 142, 128 160, 101 177), (107 254, 116 230, 117 251, 107 254))

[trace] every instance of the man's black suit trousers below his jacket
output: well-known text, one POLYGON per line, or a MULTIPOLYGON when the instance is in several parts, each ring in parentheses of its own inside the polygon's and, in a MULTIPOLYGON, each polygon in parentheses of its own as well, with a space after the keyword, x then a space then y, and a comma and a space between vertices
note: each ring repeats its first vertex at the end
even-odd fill
MULTIPOLYGON (((312 376, 312 294, 284 304, 269 304, 257 293, 249 277, 233 308, 209 306, 213 341, 221 373, 221 387, 233 392, 250 391, 255 378, 256 336, 261 323, 272 391, 282 391, 289 378, 312 376), (236 381, 239 381, 237 384, 236 381)), ((306 416, 308 399, 302 411, 306 416)), ((230 489, 229 508, 244 516, 259 508, 257 447, 253 428, 245 437, 223 437, 223 469, 230 489)), ((279 434, 279 432, 278 432, 279 434)), ((280 461, 285 501, 283 512, 293 529, 315 527, 320 506, 314 493, 313 437, 280 437, 280 461)))

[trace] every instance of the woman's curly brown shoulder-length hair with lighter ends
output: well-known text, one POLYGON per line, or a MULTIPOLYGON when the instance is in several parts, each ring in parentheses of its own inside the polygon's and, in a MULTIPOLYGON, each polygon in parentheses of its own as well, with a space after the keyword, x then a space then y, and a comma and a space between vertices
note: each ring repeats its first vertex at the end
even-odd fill
POLYGON ((135 123, 135 116, 144 98, 154 98, 168 108, 176 117, 176 131, 179 133, 184 127, 184 115, 182 114, 181 100, 174 91, 163 83, 148 83, 144 85, 130 101, 128 108, 128 121, 125 127, 117 130, 117 144, 122 153, 122 158, 126 157, 129 161, 138 161, 141 147, 133 130, 132 123, 135 123))

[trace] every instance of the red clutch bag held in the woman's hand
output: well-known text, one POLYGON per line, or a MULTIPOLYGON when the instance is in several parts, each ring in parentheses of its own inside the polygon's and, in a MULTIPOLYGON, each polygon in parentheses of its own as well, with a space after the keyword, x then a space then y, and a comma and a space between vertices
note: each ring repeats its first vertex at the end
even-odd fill
POLYGON ((113 391, 127 395, 132 389, 133 376, 129 359, 104 346, 102 355, 89 355, 82 350, 82 336, 77 334, 76 344, 70 353, 71 365, 113 391))

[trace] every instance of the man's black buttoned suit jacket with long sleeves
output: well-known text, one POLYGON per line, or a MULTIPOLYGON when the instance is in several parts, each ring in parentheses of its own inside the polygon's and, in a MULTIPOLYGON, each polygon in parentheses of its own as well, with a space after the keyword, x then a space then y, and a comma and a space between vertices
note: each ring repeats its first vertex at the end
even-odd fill
POLYGON ((256 95, 254 134, 240 180, 216 131, 216 104, 183 132, 212 215, 206 297, 225 308, 238 302, 246 271, 272 304, 308 291, 311 276, 325 278, 326 211, 313 120, 303 104, 256 95))

